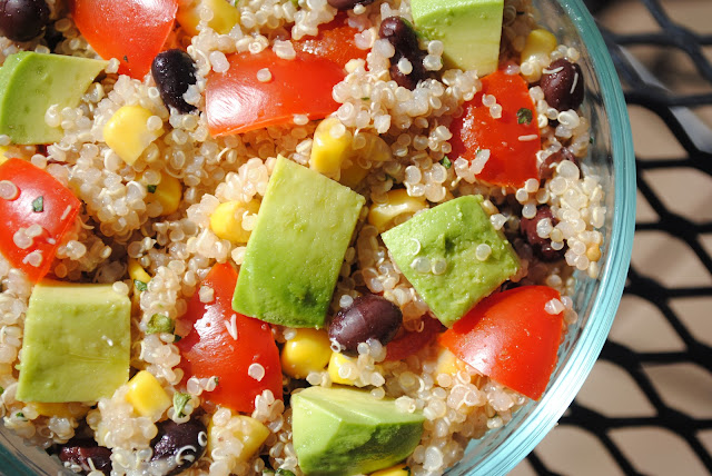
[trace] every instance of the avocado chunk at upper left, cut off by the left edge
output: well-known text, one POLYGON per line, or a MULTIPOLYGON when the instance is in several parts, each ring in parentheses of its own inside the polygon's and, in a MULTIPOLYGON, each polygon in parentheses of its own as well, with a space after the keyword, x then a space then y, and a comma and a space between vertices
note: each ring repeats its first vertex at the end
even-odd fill
POLYGON ((14 143, 52 143, 62 129, 44 122, 50 106, 76 108, 107 61, 22 51, 0 68, 0 133, 14 143))

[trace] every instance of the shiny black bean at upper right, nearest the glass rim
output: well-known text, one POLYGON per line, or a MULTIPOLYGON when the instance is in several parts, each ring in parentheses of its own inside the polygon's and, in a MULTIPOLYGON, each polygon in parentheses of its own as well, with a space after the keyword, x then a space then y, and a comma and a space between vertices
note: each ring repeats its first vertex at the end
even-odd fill
POLYGON ((552 62, 542 75, 540 86, 548 106, 560 111, 578 109, 583 102, 583 73, 581 67, 565 59, 552 62))

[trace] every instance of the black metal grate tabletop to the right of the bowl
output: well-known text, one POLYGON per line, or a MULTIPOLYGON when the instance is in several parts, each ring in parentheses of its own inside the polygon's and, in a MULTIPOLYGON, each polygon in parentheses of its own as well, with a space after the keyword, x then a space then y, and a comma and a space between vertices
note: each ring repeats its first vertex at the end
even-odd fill
MULTIPOLYGON (((706 1, 706 0, 705 0, 706 1)), ((591 2, 590 2, 591 3, 591 2)), ((665 206, 661 195, 646 180, 645 172, 650 170, 669 170, 672 168, 689 168, 708 176, 712 176, 712 132, 696 119, 696 125, 685 119, 692 116, 690 110, 683 108, 702 108, 712 106, 712 93, 683 95, 670 91, 655 83, 646 75, 641 72, 640 63, 631 59, 630 52, 620 47, 645 46, 655 50, 676 49, 683 52, 694 65, 696 73, 703 83, 712 89, 712 66, 705 58, 704 48, 712 46, 712 34, 698 34, 690 29, 675 23, 657 0, 640 0, 651 13, 660 27, 660 31, 651 33, 621 34, 613 33, 602 28, 602 32, 621 81, 624 83, 625 99, 630 106, 637 106, 659 116, 670 131, 678 138, 684 148, 685 156, 661 159, 636 159, 637 188, 650 206, 657 214, 659 219, 653 221, 636 222, 636 234, 659 231, 676 237, 699 259, 709 275, 712 275, 712 258, 705 250, 701 236, 712 232, 712 221, 693 222, 689 218, 672 211, 665 206), (686 116, 686 118, 684 117, 686 116), (695 127, 696 126, 696 127, 695 127), (706 130, 705 130, 706 129, 706 130)), ((672 3, 672 2, 671 2, 672 3)), ((599 4, 599 7, 601 7, 599 4)), ((708 19, 709 20, 709 19, 708 19)), ((708 21, 708 27, 710 23, 708 21)), ((712 27, 710 27, 712 28, 712 27)), ((644 68, 643 68, 644 69, 644 68)), ((693 118, 693 122, 695 119, 693 118)), ((636 353, 625 345, 609 340, 603 348, 601 359, 625 369, 635 385, 645 395, 654 415, 647 417, 610 417, 575 400, 566 415, 560 420, 562 426, 578 427, 595 437, 610 454, 620 470, 629 475, 642 474, 619 446, 611 432, 622 428, 663 428, 675 433, 682 438, 693 454, 699 458, 701 467, 712 474, 712 455, 700 439, 701 432, 712 430, 712 419, 696 419, 692 415, 668 405, 649 375, 644 371, 645 365, 675 365, 693 364, 712 375, 712 347, 705 344, 699 335, 694 335, 671 306, 671 300, 676 298, 710 297, 712 286, 670 287, 661 281, 644 275, 644 269, 631 266, 625 287, 627 296, 636 296, 656 307, 661 315, 670 324, 671 328, 684 343, 684 350, 668 353, 636 353)), ((708 309, 704 318, 712 318, 712 310, 708 309)), ((709 338, 708 338, 709 343, 709 338)), ((712 395, 709 395, 709 405, 712 407, 712 395)), ((554 475, 547 467, 545 458, 540 450, 534 450, 528 457, 531 468, 540 475, 554 475)), ((686 474, 680 468, 680 475, 686 474)))

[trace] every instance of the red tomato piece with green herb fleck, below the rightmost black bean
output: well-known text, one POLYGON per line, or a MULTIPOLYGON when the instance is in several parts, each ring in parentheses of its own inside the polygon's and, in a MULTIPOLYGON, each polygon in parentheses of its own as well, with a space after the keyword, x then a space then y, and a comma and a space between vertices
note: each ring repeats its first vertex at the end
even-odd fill
POLYGON ((485 76, 482 91, 463 108, 463 116, 455 118, 449 128, 452 157, 472 161, 477 150, 488 149, 490 159, 477 178, 497 186, 518 188, 527 179, 538 178, 536 152, 541 136, 536 108, 521 76, 503 71, 485 76), (502 106, 501 118, 492 117, 490 108, 482 103, 483 95, 496 98, 502 106))

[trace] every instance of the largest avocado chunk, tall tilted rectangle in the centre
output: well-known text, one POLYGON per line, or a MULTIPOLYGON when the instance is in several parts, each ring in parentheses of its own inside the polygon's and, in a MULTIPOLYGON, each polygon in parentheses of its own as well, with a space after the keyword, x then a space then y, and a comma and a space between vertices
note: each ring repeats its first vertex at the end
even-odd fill
POLYGON ((278 158, 247 242, 233 308, 290 327, 323 327, 365 199, 278 158))

